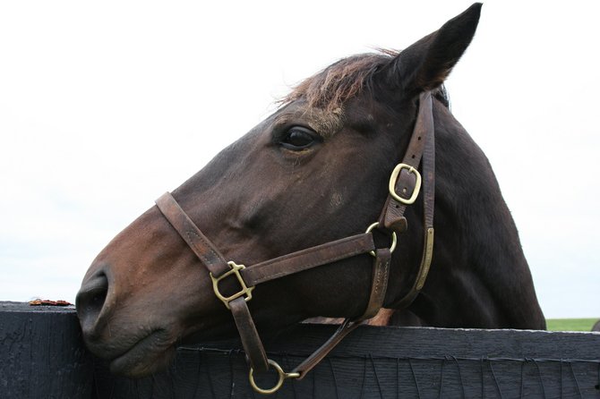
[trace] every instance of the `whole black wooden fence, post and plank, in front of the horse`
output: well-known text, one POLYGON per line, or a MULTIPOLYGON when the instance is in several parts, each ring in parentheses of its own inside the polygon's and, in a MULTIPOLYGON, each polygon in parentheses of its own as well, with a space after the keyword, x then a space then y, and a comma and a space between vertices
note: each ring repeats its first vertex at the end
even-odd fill
MULTIPOLYGON (((335 327, 300 325, 266 341, 292 369, 335 327)), ((268 386, 268 382, 263 382, 268 386)), ((600 334, 359 327, 277 398, 600 398, 600 334)), ((0 398, 255 398, 236 340, 177 350, 167 371, 110 375, 81 343, 74 310, 0 302, 0 398)))

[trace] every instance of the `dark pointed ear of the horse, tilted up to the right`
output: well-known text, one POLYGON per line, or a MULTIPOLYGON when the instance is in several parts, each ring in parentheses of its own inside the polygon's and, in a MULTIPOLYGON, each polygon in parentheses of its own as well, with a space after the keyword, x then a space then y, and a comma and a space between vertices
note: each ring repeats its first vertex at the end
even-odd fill
POLYGON ((379 73, 384 87, 400 89, 402 98, 414 98, 439 87, 471 43, 481 5, 471 5, 393 58, 379 73))

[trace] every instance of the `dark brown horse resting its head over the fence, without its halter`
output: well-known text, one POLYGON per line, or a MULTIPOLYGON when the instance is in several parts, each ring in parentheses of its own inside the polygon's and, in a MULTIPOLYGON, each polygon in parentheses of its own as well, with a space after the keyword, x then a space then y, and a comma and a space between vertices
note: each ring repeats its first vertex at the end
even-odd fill
MULTIPOLYGON (((441 86, 473 38, 480 8, 474 4, 400 53, 330 65, 173 191, 201 229, 194 234, 206 238, 199 256, 157 207, 119 233, 93 261, 77 296, 91 352, 116 372, 141 376, 163 366, 187 337, 235 334, 234 319, 213 292, 206 251, 244 263, 247 271, 364 232, 390 203, 390 174, 412 145, 428 92, 436 142, 435 243, 425 257, 431 271, 415 290, 423 248, 433 245, 424 238, 433 226, 423 223, 422 191, 399 218, 406 225, 390 227, 398 245, 381 306, 394 308, 414 292, 403 306, 429 326, 544 329, 492 168, 450 114, 441 86)), ((405 169, 404 175, 417 174, 416 167, 405 169)), ((375 241, 385 244, 386 228, 378 230, 375 241)), ((363 251, 257 286, 246 303, 258 331, 313 317, 359 318, 370 301, 371 259, 363 251)))

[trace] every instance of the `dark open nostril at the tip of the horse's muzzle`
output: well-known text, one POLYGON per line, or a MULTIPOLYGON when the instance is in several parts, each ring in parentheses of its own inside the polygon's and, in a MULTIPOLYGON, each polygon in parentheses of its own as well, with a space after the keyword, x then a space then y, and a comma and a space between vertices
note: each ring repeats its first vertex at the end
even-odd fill
POLYGON ((77 316, 84 331, 90 332, 107 300, 108 279, 104 273, 94 276, 77 293, 77 316))

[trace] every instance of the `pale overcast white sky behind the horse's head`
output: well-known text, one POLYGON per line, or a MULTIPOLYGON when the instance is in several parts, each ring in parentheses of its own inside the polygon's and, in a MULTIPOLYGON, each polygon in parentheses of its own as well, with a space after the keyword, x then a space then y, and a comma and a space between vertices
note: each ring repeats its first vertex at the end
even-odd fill
MULTIPOLYGON (((99 250, 341 57, 466 1, 0 3, 0 301, 74 301, 99 250)), ((547 318, 600 318, 597 2, 484 3, 446 82, 547 318)))

